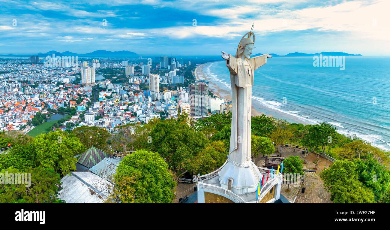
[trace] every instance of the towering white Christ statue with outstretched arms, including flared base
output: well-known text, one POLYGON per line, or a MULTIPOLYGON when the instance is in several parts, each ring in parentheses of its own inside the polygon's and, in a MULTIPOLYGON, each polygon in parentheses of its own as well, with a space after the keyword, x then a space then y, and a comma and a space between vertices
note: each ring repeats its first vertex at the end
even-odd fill
POLYGON ((250 151, 252 86, 254 71, 266 64, 267 58, 272 55, 250 57, 254 41, 255 35, 251 30, 241 38, 234 57, 223 51, 221 55, 230 71, 233 103, 229 157, 218 177, 221 187, 236 194, 254 193, 262 177, 251 160, 250 151))

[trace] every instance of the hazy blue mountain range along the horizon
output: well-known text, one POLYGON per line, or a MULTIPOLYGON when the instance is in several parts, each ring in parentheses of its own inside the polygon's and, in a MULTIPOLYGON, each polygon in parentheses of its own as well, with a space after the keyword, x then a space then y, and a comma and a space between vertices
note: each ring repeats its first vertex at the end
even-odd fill
MULTIPOLYGON (((30 54, 30 55, 38 55, 39 57, 46 57, 46 56, 52 56, 54 53, 55 56, 78 56, 78 57, 139 57, 135 52, 131 52, 128 50, 121 50, 121 51, 107 51, 107 50, 95 50, 90 53, 73 53, 70 51, 65 52, 57 52, 55 50, 51 50, 46 53, 37 53, 37 54, 30 54)), ((294 52, 294 53, 288 53, 286 55, 278 55, 276 53, 270 53, 273 55, 273 57, 312 57, 316 55, 324 55, 324 56, 363 56, 361 54, 350 54, 350 53, 344 53, 344 52, 321 52, 321 53, 300 53, 300 52, 294 52)), ((7 55, 0 55, 3 57, 26 57, 30 55, 17 55, 17 54, 7 54, 7 55)), ((252 55, 252 57, 262 55, 262 53, 257 53, 255 55, 252 55)), ((195 55, 199 56, 199 55, 195 55)))

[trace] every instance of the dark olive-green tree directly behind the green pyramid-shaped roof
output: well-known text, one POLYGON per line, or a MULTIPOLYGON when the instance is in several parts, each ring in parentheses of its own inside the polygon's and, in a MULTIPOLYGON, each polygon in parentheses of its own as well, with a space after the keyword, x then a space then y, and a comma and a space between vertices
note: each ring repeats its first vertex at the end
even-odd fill
POLYGON ((72 134, 78 137, 87 148, 94 146, 101 150, 106 150, 107 140, 110 137, 106 128, 88 126, 74 128, 72 134))

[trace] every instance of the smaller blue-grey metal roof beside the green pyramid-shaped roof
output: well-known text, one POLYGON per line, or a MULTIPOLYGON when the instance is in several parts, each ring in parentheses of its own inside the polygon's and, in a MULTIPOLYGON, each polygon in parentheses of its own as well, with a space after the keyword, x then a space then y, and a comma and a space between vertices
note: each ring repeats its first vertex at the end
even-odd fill
POLYGON ((117 173, 119 162, 121 162, 122 159, 123 157, 106 157, 101 162, 90 168, 89 171, 95 173, 101 178, 105 178, 111 181, 113 175, 117 173))

